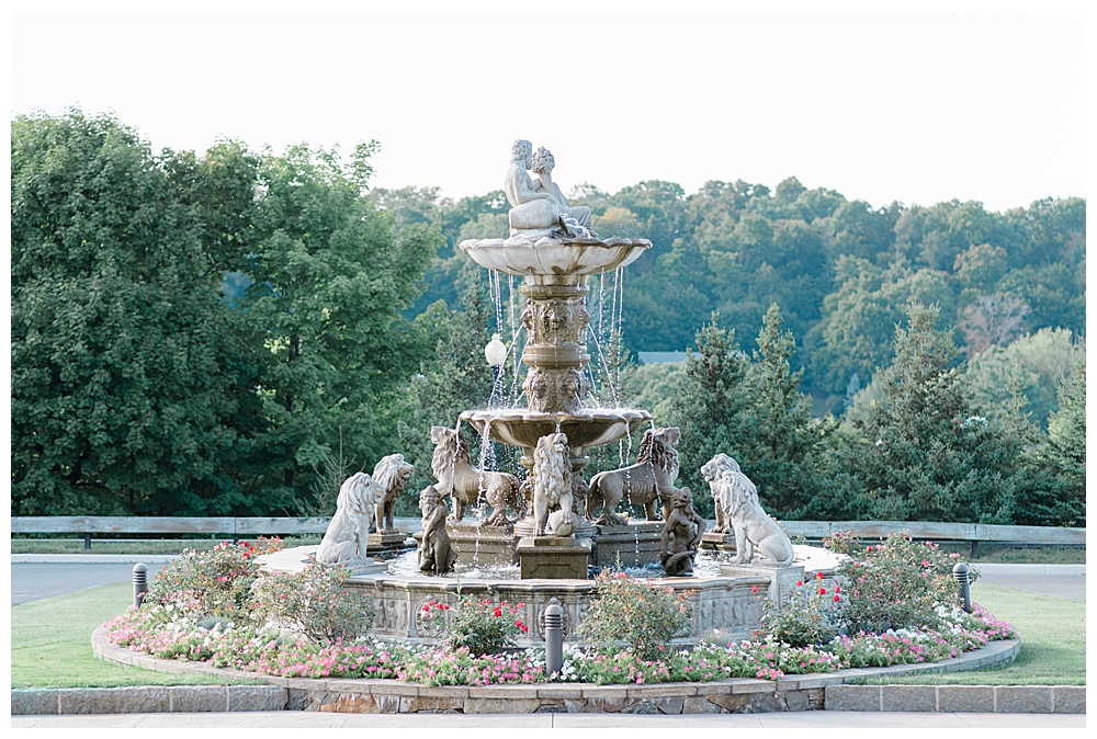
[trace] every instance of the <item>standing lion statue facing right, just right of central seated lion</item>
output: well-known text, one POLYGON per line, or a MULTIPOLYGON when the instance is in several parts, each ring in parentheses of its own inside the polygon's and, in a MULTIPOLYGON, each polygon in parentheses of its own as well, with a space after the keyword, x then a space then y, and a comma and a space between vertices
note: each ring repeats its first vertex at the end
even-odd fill
POLYGON ((669 515, 670 493, 678 479, 678 451, 675 444, 681 439, 677 428, 648 429, 640 442, 640 459, 621 469, 598 473, 590 480, 587 491, 587 518, 593 518, 599 504, 601 516, 595 523, 602 526, 621 526, 625 521, 615 513, 618 504, 626 497, 632 503, 642 503, 648 521, 658 521, 655 503, 669 515))

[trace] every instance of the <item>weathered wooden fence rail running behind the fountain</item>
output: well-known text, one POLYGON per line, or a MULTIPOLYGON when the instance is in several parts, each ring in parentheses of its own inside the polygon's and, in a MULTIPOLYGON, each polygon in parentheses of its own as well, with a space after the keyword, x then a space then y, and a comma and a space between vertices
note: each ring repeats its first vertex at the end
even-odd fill
MULTIPOLYGON (((154 516, 13 516, 12 534, 83 534, 86 549, 92 534, 226 534, 246 538, 264 534, 323 534, 329 518, 154 518, 154 516)), ((403 520, 412 527, 418 519, 403 520)), ((850 532, 861 539, 880 539, 892 532, 907 532, 911 537, 931 542, 970 542, 972 556, 979 557, 980 542, 995 544, 1042 544, 1084 547, 1085 528, 1062 526, 1003 526, 982 523, 935 523, 930 521, 782 521, 789 536, 819 539, 838 532, 850 532)), ((712 523, 709 524, 712 527, 712 523)))

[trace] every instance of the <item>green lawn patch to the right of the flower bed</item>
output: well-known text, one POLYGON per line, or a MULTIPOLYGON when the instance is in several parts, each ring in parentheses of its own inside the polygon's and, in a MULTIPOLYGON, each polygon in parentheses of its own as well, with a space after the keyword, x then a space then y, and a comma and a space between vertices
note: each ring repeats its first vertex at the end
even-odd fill
POLYGON ((1013 664, 997 670, 864 680, 879 685, 1085 685, 1086 604, 976 583, 972 598, 1021 635, 1013 664))

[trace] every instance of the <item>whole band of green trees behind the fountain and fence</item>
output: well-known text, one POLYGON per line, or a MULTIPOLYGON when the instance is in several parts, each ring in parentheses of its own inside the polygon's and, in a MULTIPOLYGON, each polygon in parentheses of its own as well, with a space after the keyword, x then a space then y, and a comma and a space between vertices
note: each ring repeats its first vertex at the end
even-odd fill
MULTIPOLYGON (((370 189, 376 147, 154 152, 112 116, 13 120, 13 514, 325 512, 394 451, 429 478, 430 425, 491 389, 487 280, 456 245, 506 236, 508 205, 370 189)), ((1084 522, 1083 200, 570 197, 653 241, 603 372, 683 429, 702 508, 712 447, 782 515, 1084 522), (947 397, 904 395, 928 378, 947 397)))

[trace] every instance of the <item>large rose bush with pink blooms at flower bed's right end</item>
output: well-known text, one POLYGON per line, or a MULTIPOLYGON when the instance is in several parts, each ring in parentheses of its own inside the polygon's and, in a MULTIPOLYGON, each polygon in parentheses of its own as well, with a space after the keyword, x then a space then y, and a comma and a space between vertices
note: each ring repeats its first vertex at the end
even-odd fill
MULTIPOLYGON (((848 535, 825 544, 852 555, 839 568, 841 592, 836 592, 840 600, 835 601, 835 619, 846 634, 939 627, 959 604, 952 566, 960 555, 945 554, 931 542, 916 543, 904 532, 892 533, 863 552, 848 535)), ((977 577, 972 570, 969 580, 977 577)))

